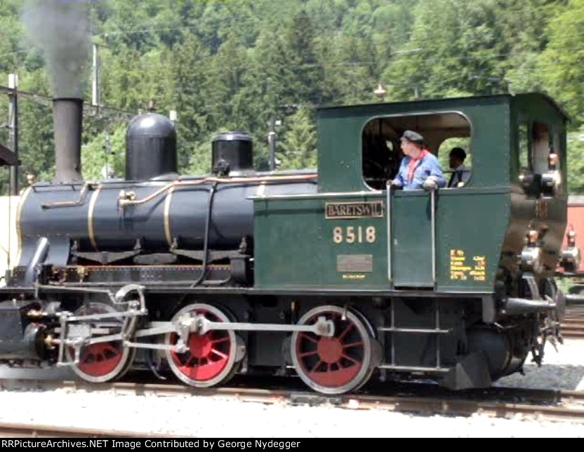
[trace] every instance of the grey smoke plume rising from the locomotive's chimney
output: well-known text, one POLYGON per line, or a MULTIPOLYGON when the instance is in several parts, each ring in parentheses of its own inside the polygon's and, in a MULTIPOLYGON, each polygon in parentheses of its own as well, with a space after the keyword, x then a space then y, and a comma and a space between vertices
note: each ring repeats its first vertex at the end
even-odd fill
POLYGON ((22 18, 32 44, 44 54, 54 95, 81 98, 90 48, 85 5, 72 0, 27 0, 22 18))

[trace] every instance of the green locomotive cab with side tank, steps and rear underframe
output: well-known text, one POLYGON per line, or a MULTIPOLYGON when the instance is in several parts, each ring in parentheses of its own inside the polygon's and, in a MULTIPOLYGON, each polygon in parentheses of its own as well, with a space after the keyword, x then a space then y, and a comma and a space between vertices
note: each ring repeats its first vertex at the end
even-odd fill
POLYGON ((256 287, 357 307, 384 375, 461 388, 519 371, 530 352, 539 364, 564 310, 568 120, 538 93, 319 109, 317 192, 254 198, 256 287), (390 187, 404 131, 447 181, 449 151, 465 148, 462 182, 390 187))

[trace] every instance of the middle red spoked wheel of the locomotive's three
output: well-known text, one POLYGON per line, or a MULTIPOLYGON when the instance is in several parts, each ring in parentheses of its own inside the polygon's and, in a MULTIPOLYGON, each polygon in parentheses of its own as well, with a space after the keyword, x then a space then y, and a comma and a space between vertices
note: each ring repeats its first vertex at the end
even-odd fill
MULTIPOLYGON (((183 307, 172 321, 190 314, 203 315, 209 321, 230 322, 226 312, 204 303, 194 303, 183 307)), ((177 333, 166 335, 165 343, 175 345, 177 333)), ((211 330, 205 334, 190 333, 186 341, 187 352, 166 350, 166 359, 173 373, 187 385, 210 387, 225 383, 237 372, 237 335, 233 331, 211 330)))

